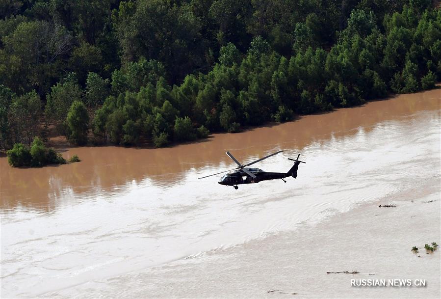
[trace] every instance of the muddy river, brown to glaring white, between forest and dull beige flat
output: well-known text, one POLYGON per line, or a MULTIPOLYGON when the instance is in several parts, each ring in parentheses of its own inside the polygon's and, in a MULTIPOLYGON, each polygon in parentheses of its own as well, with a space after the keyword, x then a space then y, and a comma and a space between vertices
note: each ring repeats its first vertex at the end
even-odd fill
POLYGON ((16 169, 0 158, 1 298, 110 285, 439 182, 440 98, 440 89, 400 95, 165 149, 71 148, 63 156, 81 162, 61 166, 16 169), (287 171, 298 153, 306 164, 286 183, 234 190, 217 184, 222 175, 198 180, 234 168, 227 150, 240 162, 284 150, 255 164, 265 171, 287 171))

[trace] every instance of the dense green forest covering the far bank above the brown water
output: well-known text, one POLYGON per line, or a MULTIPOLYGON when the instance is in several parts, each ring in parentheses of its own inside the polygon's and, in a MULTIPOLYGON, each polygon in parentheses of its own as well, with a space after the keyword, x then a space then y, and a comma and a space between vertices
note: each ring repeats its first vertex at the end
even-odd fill
POLYGON ((441 79, 431 0, 2 0, 0 16, 3 149, 51 132, 161 147, 441 79))

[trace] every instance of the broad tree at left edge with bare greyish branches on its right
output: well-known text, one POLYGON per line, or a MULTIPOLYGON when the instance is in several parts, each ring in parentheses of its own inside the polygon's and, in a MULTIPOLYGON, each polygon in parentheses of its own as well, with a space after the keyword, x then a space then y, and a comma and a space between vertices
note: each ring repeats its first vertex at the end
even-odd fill
POLYGON ((16 93, 36 86, 40 96, 58 77, 63 67, 57 62, 72 47, 66 28, 46 21, 22 22, 1 40, 1 82, 16 93))

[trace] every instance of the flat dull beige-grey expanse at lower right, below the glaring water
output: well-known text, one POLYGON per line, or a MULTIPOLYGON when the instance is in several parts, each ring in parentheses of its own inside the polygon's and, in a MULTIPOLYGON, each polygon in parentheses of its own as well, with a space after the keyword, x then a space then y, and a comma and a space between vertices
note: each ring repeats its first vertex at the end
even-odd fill
POLYGON ((318 224, 41 297, 440 298, 441 248, 424 249, 440 244, 439 183, 432 177, 318 224), (396 207, 379 207, 389 203, 396 207), (327 273, 343 271, 360 273, 327 273), (424 279, 426 286, 356 287, 351 279, 424 279))

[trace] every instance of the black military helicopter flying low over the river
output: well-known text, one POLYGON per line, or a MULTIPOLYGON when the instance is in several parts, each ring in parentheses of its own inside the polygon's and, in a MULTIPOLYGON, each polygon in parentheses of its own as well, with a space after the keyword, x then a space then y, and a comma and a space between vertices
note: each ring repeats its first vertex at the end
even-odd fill
POLYGON ((268 156, 263 157, 259 160, 256 160, 251 163, 244 164, 244 165, 239 163, 230 152, 225 152, 227 154, 227 156, 230 157, 238 165, 238 167, 236 167, 234 169, 218 172, 215 174, 210 174, 210 175, 204 176, 199 179, 204 179, 204 178, 208 178, 213 175, 218 175, 218 174, 221 174, 224 172, 228 172, 226 175, 224 175, 219 180, 218 183, 221 185, 225 185, 225 186, 233 186, 235 190, 237 190, 239 188, 239 187, 237 187, 237 185, 240 185, 240 184, 254 184, 254 183, 259 183, 261 181, 266 181, 266 180, 281 179, 282 181, 284 181, 286 183, 284 178, 286 178, 288 176, 292 176, 295 179, 297 177, 297 169, 299 168, 299 164, 306 163, 306 162, 299 160, 300 154, 297 156, 296 160, 288 158, 288 160, 294 161, 294 165, 291 167, 291 169, 288 170, 288 172, 266 172, 266 171, 263 171, 262 169, 259 169, 259 168, 247 167, 247 166, 250 166, 254 163, 258 163, 262 160, 265 160, 266 158, 269 158, 269 157, 272 157, 272 156, 277 155, 279 153, 282 153, 282 152, 283 151, 275 152, 274 154, 268 155, 268 156))

